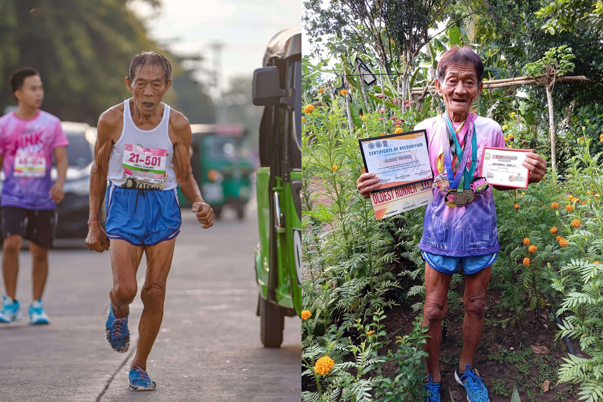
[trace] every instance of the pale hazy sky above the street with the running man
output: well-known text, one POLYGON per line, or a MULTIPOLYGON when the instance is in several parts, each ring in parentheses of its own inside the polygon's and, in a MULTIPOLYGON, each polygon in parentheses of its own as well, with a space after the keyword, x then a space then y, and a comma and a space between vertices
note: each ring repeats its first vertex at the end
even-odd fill
POLYGON ((271 37, 286 28, 301 26, 300 0, 162 0, 152 16, 143 1, 131 7, 148 17, 153 39, 169 43, 178 53, 199 53, 212 68, 212 42, 224 45, 221 56, 221 86, 229 78, 253 74, 262 67, 262 58, 271 37))

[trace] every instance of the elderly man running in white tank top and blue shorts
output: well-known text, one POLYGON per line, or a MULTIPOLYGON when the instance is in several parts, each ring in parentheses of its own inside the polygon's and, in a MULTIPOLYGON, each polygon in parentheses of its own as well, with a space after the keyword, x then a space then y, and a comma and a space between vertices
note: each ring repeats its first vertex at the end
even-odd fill
POLYGON ((161 102, 171 85, 171 66, 157 52, 130 60, 125 86, 132 98, 98 119, 95 162, 90 174, 90 250, 109 250, 113 289, 106 338, 124 353, 130 345, 129 304, 136 297, 136 271, 147 256, 144 304, 136 354, 130 366, 130 389, 148 391, 156 383, 147 374, 147 358, 163 318, 165 284, 180 232, 180 189, 192 203, 203 228, 213 225, 213 210, 204 203, 192 176, 191 126, 182 113, 161 102), (107 179, 107 233, 101 227, 101 203, 107 179), (110 247, 109 247, 110 246, 110 247))

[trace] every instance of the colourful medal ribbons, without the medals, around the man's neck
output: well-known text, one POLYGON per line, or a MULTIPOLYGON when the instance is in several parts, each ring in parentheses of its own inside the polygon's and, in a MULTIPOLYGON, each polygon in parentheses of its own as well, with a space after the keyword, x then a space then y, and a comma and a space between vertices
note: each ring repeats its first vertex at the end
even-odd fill
MULTIPOLYGON (((465 146, 467 146, 469 140, 471 142, 471 166, 470 168, 465 169, 467 166, 467 161, 469 160, 469 152, 463 152, 461 149, 461 144, 456 139, 456 135, 452 135, 452 133, 456 134, 456 130, 452 127, 452 122, 450 122, 450 118, 447 113, 444 113, 444 121, 446 122, 446 134, 447 138, 444 139, 442 137, 442 146, 444 152, 444 165, 446 165, 446 172, 448 174, 449 180, 452 177, 453 181, 450 183, 450 189, 457 189, 459 184, 461 184, 461 179, 463 179, 463 188, 469 190, 469 184, 471 184, 471 180, 473 178, 473 174, 475 174, 475 169, 478 165, 478 144, 477 144, 477 135, 475 131, 475 122, 471 114, 467 116, 469 119, 469 128, 467 129, 467 133, 465 134, 465 146), (469 135, 469 139, 467 139, 467 135, 469 135), (461 172, 456 172, 456 175, 452 169, 452 149, 450 149, 450 140, 454 142, 456 154, 458 154, 458 159, 461 160, 459 166, 462 166, 463 169, 461 172)), ((467 151, 467 149, 465 149, 467 151)))

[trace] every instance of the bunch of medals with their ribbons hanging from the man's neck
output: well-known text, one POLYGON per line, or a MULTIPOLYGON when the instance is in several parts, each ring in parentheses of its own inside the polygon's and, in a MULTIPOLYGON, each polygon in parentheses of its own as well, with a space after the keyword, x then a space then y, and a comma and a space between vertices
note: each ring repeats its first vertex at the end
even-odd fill
MULTIPOLYGON (((452 126, 452 122, 450 122, 448 115, 444 113, 444 116, 444 121, 446 124, 446 134, 448 139, 448 141, 446 141, 442 137, 442 143, 444 147, 444 163, 446 164, 448 176, 454 179, 450 185, 450 189, 448 189, 444 193, 444 202, 449 207, 462 207, 471 203, 473 199, 475 199, 475 193, 473 192, 471 186, 471 179, 473 178, 473 174, 475 173, 475 168, 477 166, 478 145, 477 136, 475 132, 475 124, 473 124, 471 116, 467 116, 467 119, 469 119, 469 127, 467 128, 467 132, 465 134, 464 143, 467 146, 467 135, 471 135, 472 157, 470 168, 468 169, 468 171, 465 171, 467 162, 469 162, 469 152, 463 152, 463 149, 461 149, 461 145, 458 142, 458 139, 456 139, 456 136, 461 130, 463 130, 463 127, 465 127, 467 120, 459 126, 458 130, 455 130, 452 126), (452 132, 455 133, 455 136, 452 136, 452 132), (452 143, 454 143, 455 145, 455 153, 457 155, 455 158, 455 170, 452 169, 452 162, 450 161, 452 154, 450 145, 452 145, 452 143), (458 171, 459 168, 461 168, 460 172, 458 171)), ((481 186, 479 187, 481 190, 481 186)), ((485 189, 483 191, 485 191, 485 189)))

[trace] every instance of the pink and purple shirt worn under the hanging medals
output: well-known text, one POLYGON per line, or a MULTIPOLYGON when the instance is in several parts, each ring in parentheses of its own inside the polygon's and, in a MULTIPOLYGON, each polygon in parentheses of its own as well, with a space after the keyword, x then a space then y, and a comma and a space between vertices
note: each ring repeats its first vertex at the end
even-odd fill
MULTIPOLYGON (((482 168, 484 146, 505 147, 505 139, 500 125, 492 119, 482 118, 472 113, 478 143, 478 166, 474 177, 482 168)), ((458 128, 461 123, 453 123, 458 128)), ((468 124, 466 125, 468 126, 468 124)), ((446 136, 445 122, 441 116, 420 122, 415 130, 426 130, 429 142, 429 160, 434 176, 446 174, 442 158, 442 137, 446 136)), ((458 133, 461 146, 464 145, 466 128, 458 133)), ((450 178, 452 182, 452 178, 450 178)), ((418 248, 426 253, 451 257, 484 256, 496 253, 498 229, 496 209, 491 187, 482 194, 475 195, 472 203, 463 207, 449 207, 444 203, 444 195, 434 189, 434 199, 425 209, 423 236, 418 248)))

